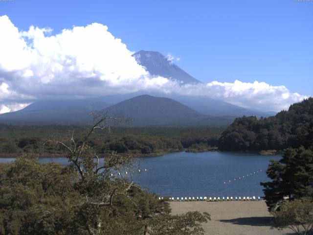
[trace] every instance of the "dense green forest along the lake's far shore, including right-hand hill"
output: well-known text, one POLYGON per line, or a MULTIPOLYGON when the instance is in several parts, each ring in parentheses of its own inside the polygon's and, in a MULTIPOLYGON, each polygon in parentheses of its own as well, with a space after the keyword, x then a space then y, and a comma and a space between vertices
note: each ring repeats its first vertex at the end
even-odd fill
MULTIPOLYGON (((69 125, 5 125, 0 124, 0 157, 19 156, 22 153, 39 153, 41 156, 60 156, 61 148, 44 145, 72 135, 81 136, 87 128, 69 125)), ((98 132, 89 140, 90 146, 100 154, 112 151, 131 153, 134 156, 157 156, 182 151, 201 152, 283 150, 313 144, 313 98, 290 106, 274 117, 242 117, 223 132, 209 127, 112 127, 111 131, 98 132)))

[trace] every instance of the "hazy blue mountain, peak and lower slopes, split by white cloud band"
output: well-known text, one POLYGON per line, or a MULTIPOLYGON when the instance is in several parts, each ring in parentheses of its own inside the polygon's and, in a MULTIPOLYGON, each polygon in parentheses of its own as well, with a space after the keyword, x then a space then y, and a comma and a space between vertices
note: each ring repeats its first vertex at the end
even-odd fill
MULTIPOLYGON (((180 81, 200 83, 156 51, 138 51, 137 62, 153 75, 180 81)), ((86 124, 89 113, 102 111, 124 113, 133 125, 214 125, 225 126, 236 117, 268 117, 273 113, 258 112, 207 96, 164 94, 145 91, 131 94, 104 95, 72 100, 41 100, 26 108, 0 115, 0 122, 19 124, 86 124), (154 97, 153 97, 154 96, 154 97), (140 115, 139 115, 140 114, 140 115)))

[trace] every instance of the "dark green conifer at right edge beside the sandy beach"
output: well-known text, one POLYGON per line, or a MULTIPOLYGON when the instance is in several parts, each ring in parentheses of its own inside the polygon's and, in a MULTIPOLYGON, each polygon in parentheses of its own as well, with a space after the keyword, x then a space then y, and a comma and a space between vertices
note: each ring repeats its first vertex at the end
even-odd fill
POLYGON ((289 200, 313 196, 313 151, 288 148, 280 161, 271 161, 267 174, 272 181, 261 185, 269 210, 276 209, 284 196, 289 200))

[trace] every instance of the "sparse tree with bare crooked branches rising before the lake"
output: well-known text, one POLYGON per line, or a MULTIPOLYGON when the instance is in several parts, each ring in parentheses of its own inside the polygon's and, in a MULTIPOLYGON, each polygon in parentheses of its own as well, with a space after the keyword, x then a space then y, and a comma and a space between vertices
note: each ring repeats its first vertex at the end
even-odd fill
MULTIPOLYGON (((73 210, 80 211, 86 221, 89 235, 103 234, 101 211, 103 208, 114 208, 114 197, 122 196, 134 203, 129 190, 136 187, 133 172, 138 171, 139 162, 130 155, 119 155, 112 152, 109 156, 100 157, 88 141, 97 130, 111 131, 111 124, 121 122, 123 118, 111 118, 106 115, 92 125, 87 133, 77 140, 72 131, 67 140, 48 140, 44 144, 57 144, 65 149, 69 165, 78 175, 76 187, 81 193, 81 201, 73 210)), ((135 204, 135 203, 134 203, 135 204)))

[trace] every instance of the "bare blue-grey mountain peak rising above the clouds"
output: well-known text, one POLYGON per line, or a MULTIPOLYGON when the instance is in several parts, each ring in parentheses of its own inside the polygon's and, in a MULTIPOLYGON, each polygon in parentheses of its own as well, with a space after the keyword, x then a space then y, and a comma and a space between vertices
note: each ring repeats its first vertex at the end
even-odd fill
POLYGON ((137 63, 155 76, 162 76, 181 83, 201 83, 199 80, 180 69, 173 61, 158 51, 140 50, 134 53, 137 63))

